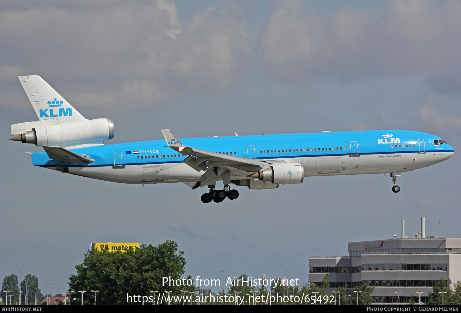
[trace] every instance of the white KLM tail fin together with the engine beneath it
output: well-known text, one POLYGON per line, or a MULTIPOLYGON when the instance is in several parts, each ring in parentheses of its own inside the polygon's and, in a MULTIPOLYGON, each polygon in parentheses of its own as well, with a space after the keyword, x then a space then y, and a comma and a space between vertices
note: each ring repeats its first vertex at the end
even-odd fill
POLYGON ((114 137, 111 119, 85 119, 40 76, 18 76, 39 121, 11 125, 10 140, 37 146, 104 145, 114 137))

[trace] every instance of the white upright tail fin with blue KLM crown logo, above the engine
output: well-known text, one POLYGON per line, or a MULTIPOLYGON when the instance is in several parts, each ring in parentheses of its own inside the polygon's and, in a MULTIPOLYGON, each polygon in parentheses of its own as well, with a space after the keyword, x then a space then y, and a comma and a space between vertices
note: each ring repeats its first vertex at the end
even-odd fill
POLYGON ((85 118, 46 81, 37 75, 18 76, 30 103, 40 120, 61 118, 82 122, 85 118))

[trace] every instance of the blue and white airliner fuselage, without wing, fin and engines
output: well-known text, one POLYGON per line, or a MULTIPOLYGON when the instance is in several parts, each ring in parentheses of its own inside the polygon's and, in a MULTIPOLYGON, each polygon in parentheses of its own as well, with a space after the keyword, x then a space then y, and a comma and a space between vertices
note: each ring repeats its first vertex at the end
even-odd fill
MULTIPOLYGON (((439 137, 406 130, 179 140, 183 145, 219 154, 266 162, 301 163, 305 177, 408 172, 442 162, 454 154, 454 149, 439 137)), ((70 174, 127 184, 193 182, 200 181, 204 173, 185 164, 183 160, 187 156, 165 146, 163 139, 70 150, 95 162, 60 162, 50 159, 45 152, 35 152, 32 163, 70 174)), ((236 170, 231 179, 248 179, 248 173, 236 170)))

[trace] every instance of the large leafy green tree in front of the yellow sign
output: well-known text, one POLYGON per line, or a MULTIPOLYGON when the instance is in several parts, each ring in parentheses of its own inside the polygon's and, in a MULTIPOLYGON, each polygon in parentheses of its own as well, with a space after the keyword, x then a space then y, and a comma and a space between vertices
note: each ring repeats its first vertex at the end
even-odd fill
MULTIPOLYGON (((100 290, 96 295, 96 303, 101 305, 140 304, 139 298, 136 303, 127 302, 127 294, 152 296, 150 291, 158 291, 157 297, 165 291, 172 291, 171 296, 182 296, 180 290, 195 291, 194 284, 187 286, 188 279, 191 284, 190 276, 183 277, 186 265, 183 255, 183 251, 177 251, 177 243, 170 240, 156 247, 142 245, 126 252, 88 251, 83 263, 75 267, 77 274, 69 278, 69 290, 86 290, 83 295, 84 304, 94 303, 94 293, 90 290, 100 290), (168 278, 168 282, 163 283, 164 277, 168 278), (186 283, 186 286, 178 286, 178 279, 181 284, 186 283)), ((79 293, 76 298, 78 300, 74 302, 79 304, 79 293)))

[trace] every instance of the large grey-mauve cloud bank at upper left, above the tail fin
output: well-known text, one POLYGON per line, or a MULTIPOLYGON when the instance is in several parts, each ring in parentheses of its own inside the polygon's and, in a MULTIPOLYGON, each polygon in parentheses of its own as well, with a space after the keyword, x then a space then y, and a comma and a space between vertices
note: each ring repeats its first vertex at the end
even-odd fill
POLYGON ((99 105, 157 106, 229 87, 248 59, 247 26, 232 10, 208 6, 182 25, 166 0, 29 4, 0 12, 0 81, 41 75, 99 105))

